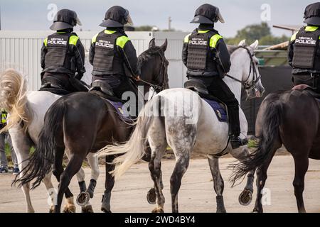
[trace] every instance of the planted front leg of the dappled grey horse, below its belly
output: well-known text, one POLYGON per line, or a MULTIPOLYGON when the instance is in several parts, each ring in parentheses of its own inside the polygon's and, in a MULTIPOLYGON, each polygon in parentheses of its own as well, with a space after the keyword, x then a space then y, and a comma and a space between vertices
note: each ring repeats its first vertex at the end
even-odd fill
POLYGON ((227 211, 223 202, 223 189, 225 185, 219 169, 219 159, 218 157, 208 156, 208 162, 213 177, 213 188, 217 194, 217 213, 226 213, 227 211))

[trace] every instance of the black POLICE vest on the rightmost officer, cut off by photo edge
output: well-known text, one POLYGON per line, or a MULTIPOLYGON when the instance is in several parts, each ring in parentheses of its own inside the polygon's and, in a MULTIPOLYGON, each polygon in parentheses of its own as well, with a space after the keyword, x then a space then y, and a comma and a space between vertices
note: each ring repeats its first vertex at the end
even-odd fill
POLYGON ((320 31, 304 31, 302 28, 294 40, 292 66, 307 70, 320 70, 320 31))

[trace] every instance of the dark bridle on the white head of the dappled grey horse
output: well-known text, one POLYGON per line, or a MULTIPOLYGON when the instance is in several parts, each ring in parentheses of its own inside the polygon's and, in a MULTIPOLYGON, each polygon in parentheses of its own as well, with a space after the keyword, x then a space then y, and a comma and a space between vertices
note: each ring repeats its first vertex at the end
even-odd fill
POLYGON ((239 46, 239 48, 243 48, 245 50, 247 50, 247 53, 250 57, 250 70, 249 70, 249 74, 247 76, 247 79, 245 79, 244 81, 237 79, 235 77, 230 76, 229 74, 225 74, 226 77, 229 77, 237 82, 240 82, 243 86, 243 89, 248 90, 248 89, 252 89, 252 88, 256 88, 257 87, 257 82, 259 81, 259 79, 261 79, 261 75, 257 73, 257 65, 255 64, 253 57, 255 57, 255 52, 253 52, 253 54, 251 54, 250 50, 245 47, 245 46, 239 46), (252 82, 250 84, 249 79, 250 79, 250 74, 253 71, 253 79, 252 82))

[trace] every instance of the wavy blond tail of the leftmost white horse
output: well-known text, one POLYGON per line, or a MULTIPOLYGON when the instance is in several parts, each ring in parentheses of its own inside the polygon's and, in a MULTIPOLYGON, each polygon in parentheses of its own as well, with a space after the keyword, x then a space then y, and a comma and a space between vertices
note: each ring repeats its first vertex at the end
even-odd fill
POLYGON ((23 129, 28 127, 31 113, 27 106, 27 83, 23 75, 14 69, 5 70, 0 76, 0 106, 9 112, 7 131, 16 123, 23 121, 23 129))

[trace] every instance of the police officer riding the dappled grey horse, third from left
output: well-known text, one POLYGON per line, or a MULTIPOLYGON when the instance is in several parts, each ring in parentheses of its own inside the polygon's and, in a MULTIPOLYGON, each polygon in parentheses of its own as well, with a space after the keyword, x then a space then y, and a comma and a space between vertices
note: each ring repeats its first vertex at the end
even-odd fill
POLYGON ((188 79, 200 79, 208 92, 228 106, 230 122, 230 143, 239 148, 245 145, 241 140, 239 104, 225 82, 223 75, 230 70, 230 54, 222 36, 214 29, 214 23, 225 23, 219 9, 203 4, 195 13, 191 23, 200 23, 191 34, 184 38, 182 60, 188 68, 188 79))

